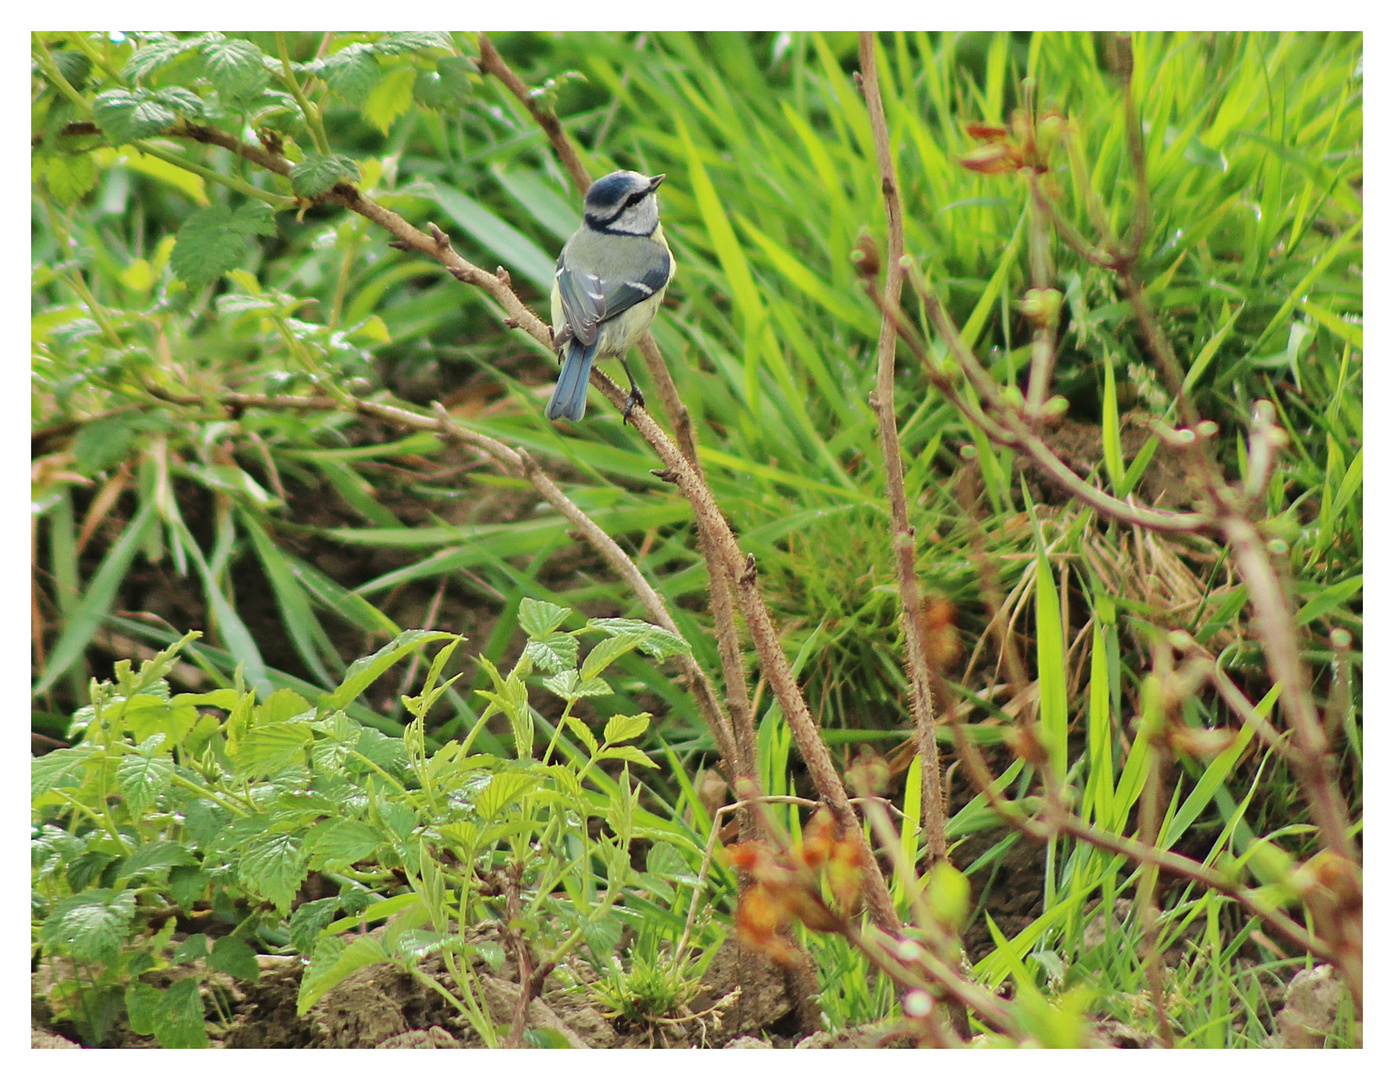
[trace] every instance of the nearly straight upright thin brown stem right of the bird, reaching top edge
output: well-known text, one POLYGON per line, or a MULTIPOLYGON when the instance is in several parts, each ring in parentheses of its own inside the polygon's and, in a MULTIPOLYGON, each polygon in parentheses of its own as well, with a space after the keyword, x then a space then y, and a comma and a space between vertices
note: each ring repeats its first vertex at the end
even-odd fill
MULTIPOLYGON (((881 173, 881 194, 885 196, 887 265, 882 311, 901 307, 905 270, 905 230, 901 220, 901 192, 895 181, 895 162, 891 157, 891 137, 885 127, 885 106, 881 103, 881 79, 875 63, 875 35, 861 32, 859 42, 861 91, 871 118, 871 138, 875 142, 877 167, 881 173)), ((905 497, 905 467, 901 461, 901 435, 895 422, 895 346, 896 321, 882 315, 881 336, 877 341, 877 382, 873 407, 881 432, 881 457, 885 464, 887 496, 891 502, 891 546, 895 553, 896 584, 901 589, 901 627, 905 633, 906 668, 910 674, 910 713, 914 718, 916 740, 920 748, 920 776, 924 783, 924 839, 930 861, 948 856, 944 818, 944 780, 940 773, 940 748, 935 741, 934 693, 930 663, 924 652, 920 605, 920 583, 914 569, 914 527, 905 497)))

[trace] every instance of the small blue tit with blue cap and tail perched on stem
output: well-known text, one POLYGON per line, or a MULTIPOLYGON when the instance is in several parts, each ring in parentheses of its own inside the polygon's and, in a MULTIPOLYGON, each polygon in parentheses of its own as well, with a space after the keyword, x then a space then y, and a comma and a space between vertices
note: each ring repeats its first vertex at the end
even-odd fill
MULTIPOLYGON (((556 261, 552 286, 552 339, 562 353, 548 419, 585 415, 591 365, 625 354, 648 330, 664 291, 673 280, 673 254, 658 223, 658 185, 664 174, 619 171, 602 176, 585 192, 585 217, 556 261)), ((644 399, 629 373, 625 415, 644 399)))

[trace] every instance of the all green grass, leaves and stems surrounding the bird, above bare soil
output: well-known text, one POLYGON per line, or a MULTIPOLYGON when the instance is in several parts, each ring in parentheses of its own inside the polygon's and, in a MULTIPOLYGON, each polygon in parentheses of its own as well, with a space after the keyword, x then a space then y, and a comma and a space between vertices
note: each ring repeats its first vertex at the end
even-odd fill
POLYGON ((33 950, 84 1041, 204 1045, 259 953, 487 1045, 559 1037, 549 977, 680 1024, 732 932, 806 1033, 1359 1042, 1359 35, 32 56, 33 950), (542 418, 612 167, 668 174, 672 439, 542 418))

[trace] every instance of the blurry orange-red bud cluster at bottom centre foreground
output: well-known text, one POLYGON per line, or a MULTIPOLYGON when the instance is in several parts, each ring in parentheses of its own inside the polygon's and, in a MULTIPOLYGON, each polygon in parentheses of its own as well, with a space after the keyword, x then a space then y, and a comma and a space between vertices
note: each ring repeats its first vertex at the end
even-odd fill
POLYGON ((776 963, 795 957, 788 928, 799 920, 809 929, 838 931, 861 903, 863 849, 820 807, 803 839, 788 849, 764 840, 729 844, 726 858, 754 884, 736 907, 736 934, 776 963))

